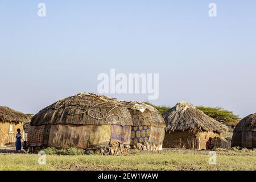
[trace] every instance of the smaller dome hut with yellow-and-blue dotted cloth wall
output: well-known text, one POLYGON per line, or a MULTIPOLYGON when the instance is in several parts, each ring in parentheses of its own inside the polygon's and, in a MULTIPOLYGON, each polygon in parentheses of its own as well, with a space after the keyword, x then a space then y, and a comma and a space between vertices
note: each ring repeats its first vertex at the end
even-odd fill
POLYGON ((131 127, 131 147, 139 150, 162 150, 164 139, 163 117, 155 107, 139 102, 123 102, 129 109, 131 127))

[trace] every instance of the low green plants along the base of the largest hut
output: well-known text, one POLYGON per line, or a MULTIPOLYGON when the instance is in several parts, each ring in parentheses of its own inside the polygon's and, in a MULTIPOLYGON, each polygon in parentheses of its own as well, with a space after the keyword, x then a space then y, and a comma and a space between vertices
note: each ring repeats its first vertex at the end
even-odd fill
POLYGON ((52 147, 44 148, 44 152, 46 152, 47 155, 83 155, 85 154, 85 151, 83 149, 79 148, 68 148, 68 149, 56 149, 52 147))

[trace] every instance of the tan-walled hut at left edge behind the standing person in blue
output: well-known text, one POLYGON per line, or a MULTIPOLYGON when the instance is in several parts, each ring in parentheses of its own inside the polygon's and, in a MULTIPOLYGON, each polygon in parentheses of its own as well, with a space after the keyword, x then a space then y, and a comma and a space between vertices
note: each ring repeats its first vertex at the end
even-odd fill
POLYGON ((23 122, 27 122, 29 119, 26 114, 0 106, 0 146, 14 145, 17 129, 20 129, 24 138, 23 122))

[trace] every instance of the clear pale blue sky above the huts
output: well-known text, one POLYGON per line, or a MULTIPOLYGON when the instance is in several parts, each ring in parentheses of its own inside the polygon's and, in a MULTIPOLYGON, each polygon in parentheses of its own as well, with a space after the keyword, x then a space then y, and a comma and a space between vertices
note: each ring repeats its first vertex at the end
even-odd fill
POLYGON ((188 101, 244 117, 256 112, 255 32, 255 1, 0 0, 0 105, 37 113, 61 98, 97 93, 98 74, 114 68, 159 73, 154 104, 188 101), (208 16, 211 2, 216 18, 208 16))

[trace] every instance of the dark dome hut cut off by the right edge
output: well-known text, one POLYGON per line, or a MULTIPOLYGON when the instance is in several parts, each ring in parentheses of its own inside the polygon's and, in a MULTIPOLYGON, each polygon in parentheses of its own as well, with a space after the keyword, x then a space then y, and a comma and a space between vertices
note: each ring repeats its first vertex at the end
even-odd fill
POLYGON ((243 118, 233 132, 231 147, 256 148, 256 113, 243 118))

